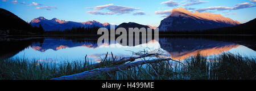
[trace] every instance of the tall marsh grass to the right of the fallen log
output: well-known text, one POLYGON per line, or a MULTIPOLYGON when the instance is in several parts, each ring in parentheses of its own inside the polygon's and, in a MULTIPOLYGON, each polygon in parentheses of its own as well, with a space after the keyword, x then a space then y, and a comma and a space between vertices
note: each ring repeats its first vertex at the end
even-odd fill
POLYGON ((222 53, 212 58, 196 54, 184 64, 164 61, 129 68, 124 71, 101 74, 97 79, 116 80, 248 80, 256 79, 254 58, 222 53))

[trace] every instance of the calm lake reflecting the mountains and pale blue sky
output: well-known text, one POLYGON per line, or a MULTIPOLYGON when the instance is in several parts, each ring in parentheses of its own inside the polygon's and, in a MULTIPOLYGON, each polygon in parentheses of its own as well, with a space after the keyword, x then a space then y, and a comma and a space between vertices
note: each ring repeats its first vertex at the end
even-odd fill
POLYGON ((23 58, 43 62, 84 60, 101 62, 106 53, 117 58, 135 56, 133 52, 162 50, 166 57, 184 60, 197 53, 212 57, 224 52, 256 57, 254 36, 200 36, 160 35, 159 41, 122 46, 120 44, 97 45, 97 36, 36 36, 9 37, 1 41, 1 58, 23 58))

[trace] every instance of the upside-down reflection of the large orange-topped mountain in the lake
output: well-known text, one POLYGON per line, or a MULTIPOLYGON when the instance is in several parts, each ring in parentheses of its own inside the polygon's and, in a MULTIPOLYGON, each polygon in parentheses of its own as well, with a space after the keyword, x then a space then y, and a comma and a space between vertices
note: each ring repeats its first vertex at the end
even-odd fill
POLYGON ((166 50, 174 60, 184 60, 197 53, 208 56, 220 54, 240 45, 232 42, 210 41, 195 38, 162 38, 159 40, 162 49, 166 50))

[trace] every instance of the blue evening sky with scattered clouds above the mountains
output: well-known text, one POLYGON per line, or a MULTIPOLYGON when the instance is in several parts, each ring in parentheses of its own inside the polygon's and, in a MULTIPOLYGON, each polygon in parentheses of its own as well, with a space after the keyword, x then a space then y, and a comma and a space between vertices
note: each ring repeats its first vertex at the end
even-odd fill
POLYGON ((43 16, 65 21, 100 21, 119 25, 135 22, 158 27, 173 8, 210 12, 245 23, 256 18, 256 0, 1 0, 4 8, 24 21, 43 16))

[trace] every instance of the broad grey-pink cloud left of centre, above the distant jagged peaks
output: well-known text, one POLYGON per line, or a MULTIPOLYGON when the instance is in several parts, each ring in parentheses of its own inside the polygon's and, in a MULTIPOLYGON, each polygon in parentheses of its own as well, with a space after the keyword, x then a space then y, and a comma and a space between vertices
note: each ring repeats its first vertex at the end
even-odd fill
MULTIPOLYGON (((91 7, 86 7, 91 8, 91 7)), ((108 5, 102 5, 102 6, 96 6, 93 8, 93 10, 103 10, 103 9, 109 10, 109 12, 99 12, 99 11, 89 11, 88 13, 94 14, 94 15, 113 15, 113 14, 129 14, 133 12, 134 10, 139 10, 141 8, 134 8, 134 7, 126 7, 126 6, 118 6, 114 4, 108 4, 108 5)))

